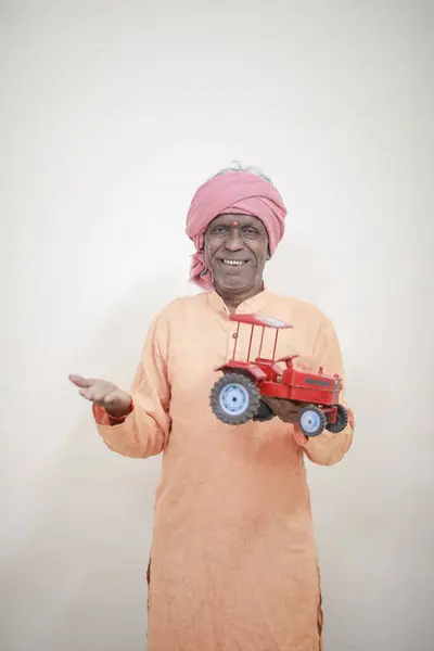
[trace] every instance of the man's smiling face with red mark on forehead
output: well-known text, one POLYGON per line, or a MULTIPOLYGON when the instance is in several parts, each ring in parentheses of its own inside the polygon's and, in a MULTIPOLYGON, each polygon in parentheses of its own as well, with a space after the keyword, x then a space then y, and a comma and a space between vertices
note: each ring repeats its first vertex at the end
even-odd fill
POLYGON ((219 215, 205 232, 205 265, 216 288, 239 293, 261 285, 268 255, 264 224, 251 215, 219 215))

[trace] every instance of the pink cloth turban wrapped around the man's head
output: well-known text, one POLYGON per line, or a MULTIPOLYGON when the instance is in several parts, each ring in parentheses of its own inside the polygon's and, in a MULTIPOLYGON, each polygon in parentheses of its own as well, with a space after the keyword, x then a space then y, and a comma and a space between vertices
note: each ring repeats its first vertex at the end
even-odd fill
POLYGON ((270 255, 283 238, 286 208, 271 183, 247 171, 228 171, 206 181, 193 196, 186 229, 196 248, 190 279, 204 290, 213 288, 202 251, 204 233, 215 217, 228 213, 252 215, 260 219, 267 229, 270 255))

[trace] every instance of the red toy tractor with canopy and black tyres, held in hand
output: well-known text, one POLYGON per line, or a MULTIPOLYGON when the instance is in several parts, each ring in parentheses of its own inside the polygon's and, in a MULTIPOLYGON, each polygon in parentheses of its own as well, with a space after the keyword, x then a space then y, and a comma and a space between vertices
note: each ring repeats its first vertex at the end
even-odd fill
POLYGON ((305 436, 318 436, 327 429, 329 432, 342 432, 348 424, 348 413, 339 404, 342 380, 339 375, 327 375, 322 367, 318 372, 297 370, 290 355, 275 360, 279 331, 292 328, 279 319, 256 315, 231 315, 231 321, 238 322, 232 359, 218 367, 224 371, 210 392, 210 407, 215 416, 224 423, 239 425, 248 420, 269 420, 273 412, 261 396, 292 400, 302 407, 298 425, 305 436), (241 323, 252 327, 247 359, 235 359, 238 335, 241 323), (258 356, 251 359, 253 332, 255 327, 263 329, 258 356), (266 328, 276 329, 272 358, 260 356, 266 328), (282 369, 277 362, 283 362, 282 369), (263 417, 260 416, 263 414, 263 417), (265 416, 264 416, 265 414, 265 416))

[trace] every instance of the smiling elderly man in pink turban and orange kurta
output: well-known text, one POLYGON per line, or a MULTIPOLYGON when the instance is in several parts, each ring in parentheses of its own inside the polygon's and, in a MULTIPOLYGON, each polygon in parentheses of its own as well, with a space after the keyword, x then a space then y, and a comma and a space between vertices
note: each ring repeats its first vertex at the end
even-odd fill
MULTIPOLYGON (((93 403, 111 449, 139 458, 164 452, 148 574, 149 651, 321 649, 304 456, 340 461, 353 441, 353 412, 341 433, 306 438, 288 401, 267 400, 261 417, 243 425, 224 424, 209 408, 215 369, 237 335, 233 312, 290 322, 279 357, 298 354, 343 374, 330 320, 264 286, 285 215, 279 192, 257 174, 227 170, 205 182, 187 218, 196 248, 191 279, 203 291, 154 318, 130 393, 71 376, 93 403)), ((263 356, 271 345, 264 341, 263 356)), ((240 331, 239 354, 247 346, 240 331)))

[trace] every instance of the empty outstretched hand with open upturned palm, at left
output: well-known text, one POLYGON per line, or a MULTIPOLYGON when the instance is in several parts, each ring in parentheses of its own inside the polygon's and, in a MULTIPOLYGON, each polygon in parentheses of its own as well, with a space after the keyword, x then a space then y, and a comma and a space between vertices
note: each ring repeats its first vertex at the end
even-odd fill
POLYGON ((118 388, 113 382, 106 380, 93 380, 72 374, 69 380, 78 386, 79 394, 87 400, 104 407, 110 416, 123 418, 131 410, 131 396, 118 388))

